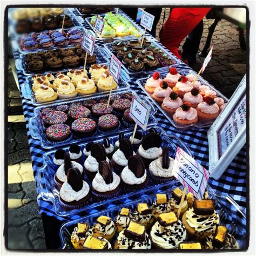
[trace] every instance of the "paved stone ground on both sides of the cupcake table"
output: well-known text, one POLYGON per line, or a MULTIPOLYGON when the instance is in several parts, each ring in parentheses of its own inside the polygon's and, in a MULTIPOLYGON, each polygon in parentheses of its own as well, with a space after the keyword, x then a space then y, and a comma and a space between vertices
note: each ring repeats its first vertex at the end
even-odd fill
MULTIPOLYGON (((166 18, 170 9, 166 10, 166 18)), ((208 35, 208 26, 213 20, 204 20, 204 33, 200 49, 208 35)), ((157 25, 163 24, 163 12, 157 25)), ((157 38, 158 38, 157 31, 157 38)), ((182 43, 181 43, 182 45, 182 43)), ((221 21, 212 37, 213 58, 203 77, 227 97, 231 97, 246 72, 246 52, 238 42, 235 26, 221 21)), ((204 58, 198 57, 193 69, 199 71, 204 58)), ((8 241, 9 248, 45 248, 41 216, 38 214, 35 183, 32 174, 30 151, 19 91, 9 71, 8 86, 8 241)))

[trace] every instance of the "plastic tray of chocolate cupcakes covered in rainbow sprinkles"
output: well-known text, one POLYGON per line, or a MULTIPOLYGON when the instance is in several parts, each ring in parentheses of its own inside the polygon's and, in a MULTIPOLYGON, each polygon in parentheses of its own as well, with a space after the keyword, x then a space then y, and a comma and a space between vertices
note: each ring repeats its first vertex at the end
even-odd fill
MULTIPOLYGON (((124 90, 113 92, 109 105, 109 95, 98 95, 37 106, 35 116, 29 119, 31 136, 45 149, 51 149, 131 131, 135 124, 129 114, 132 97, 138 97, 137 93, 124 90)), ((151 107, 148 125, 156 125, 155 107, 146 96, 143 100, 151 107)))

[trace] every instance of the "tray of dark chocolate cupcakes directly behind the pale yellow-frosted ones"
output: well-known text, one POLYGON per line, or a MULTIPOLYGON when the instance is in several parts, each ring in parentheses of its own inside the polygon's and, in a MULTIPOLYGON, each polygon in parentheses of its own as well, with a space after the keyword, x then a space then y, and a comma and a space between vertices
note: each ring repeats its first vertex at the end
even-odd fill
MULTIPOLYGON (((76 44, 69 48, 22 53, 21 58, 16 59, 15 62, 16 68, 28 76, 45 71, 57 72, 70 68, 84 68, 85 55, 86 52, 81 44, 76 44)), ((109 53, 95 45, 93 56, 87 55, 86 68, 90 68, 94 63, 107 63, 109 59, 109 53)))

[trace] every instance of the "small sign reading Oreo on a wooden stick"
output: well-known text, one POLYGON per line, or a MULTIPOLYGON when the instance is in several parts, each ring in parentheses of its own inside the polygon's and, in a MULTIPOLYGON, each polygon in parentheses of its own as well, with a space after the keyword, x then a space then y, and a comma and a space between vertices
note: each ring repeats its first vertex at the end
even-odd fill
POLYGON ((151 107, 147 105, 144 100, 137 97, 132 98, 130 117, 134 120, 136 124, 146 130, 147 122, 149 122, 151 107))

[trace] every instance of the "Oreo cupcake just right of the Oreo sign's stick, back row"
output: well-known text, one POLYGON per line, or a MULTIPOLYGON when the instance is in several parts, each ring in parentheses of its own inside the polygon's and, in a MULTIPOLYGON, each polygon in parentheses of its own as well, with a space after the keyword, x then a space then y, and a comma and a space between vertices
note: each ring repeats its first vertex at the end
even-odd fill
POLYGON ((162 139, 158 133, 149 133, 142 139, 142 145, 139 146, 137 155, 143 160, 146 167, 162 155, 161 143, 162 139))

